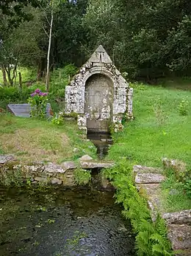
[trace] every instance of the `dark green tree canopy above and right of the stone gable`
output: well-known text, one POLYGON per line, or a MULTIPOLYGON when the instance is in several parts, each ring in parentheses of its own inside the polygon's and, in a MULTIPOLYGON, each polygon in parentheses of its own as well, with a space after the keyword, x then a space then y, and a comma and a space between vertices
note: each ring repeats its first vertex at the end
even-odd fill
POLYGON ((104 44, 132 77, 190 75, 190 0, 91 0, 88 46, 104 44))

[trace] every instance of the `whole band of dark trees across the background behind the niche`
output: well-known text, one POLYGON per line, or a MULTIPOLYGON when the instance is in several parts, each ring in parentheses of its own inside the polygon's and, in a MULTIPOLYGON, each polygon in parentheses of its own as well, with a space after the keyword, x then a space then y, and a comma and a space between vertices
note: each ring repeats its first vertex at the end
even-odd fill
MULTIPOLYGON (((43 3, 15 1, 15 10, 10 4, 1 7, 2 71, 14 71, 18 65, 35 66, 37 79, 46 72, 51 10, 47 1, 43 3), (27 5, 29 2, 32 5, 27 5), (12 12, 12 21, 16 17, 18 22, 10 27, 12 12)), ((118 68, 129 73, 129 77, 154 80, 172 74, 188 76, 190 13, 190 0, 57 0, 50 67, 68 63, 81 66, 95 47, 103 44, 118 68)), ((12 85, 10 78, 9 83, 12 85)))

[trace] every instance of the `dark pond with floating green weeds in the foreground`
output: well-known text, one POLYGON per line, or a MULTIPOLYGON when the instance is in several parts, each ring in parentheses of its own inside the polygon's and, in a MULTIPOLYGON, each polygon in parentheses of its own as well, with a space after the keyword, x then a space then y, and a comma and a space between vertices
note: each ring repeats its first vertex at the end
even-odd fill
POLYGON ((0 255, 135 255, 113 192, 0 187, 0 255))

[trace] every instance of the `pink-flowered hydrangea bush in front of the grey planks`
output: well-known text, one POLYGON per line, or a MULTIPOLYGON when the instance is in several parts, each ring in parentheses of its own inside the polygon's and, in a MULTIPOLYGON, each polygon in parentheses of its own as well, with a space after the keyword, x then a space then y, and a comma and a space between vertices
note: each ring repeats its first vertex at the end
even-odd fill
POLYGON ((28 103, 31 105, 31 117, 44 118, 46 116, 47 101, 48 92, 42 92, 40 89, 36 89, 28 99, 28 103))

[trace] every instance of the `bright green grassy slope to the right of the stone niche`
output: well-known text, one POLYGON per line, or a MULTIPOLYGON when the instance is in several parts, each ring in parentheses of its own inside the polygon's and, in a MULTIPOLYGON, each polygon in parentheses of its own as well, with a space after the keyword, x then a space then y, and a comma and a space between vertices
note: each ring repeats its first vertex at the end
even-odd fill
POLYGON ((135 86, 134 117, 123 132, 114 134, 115 144, 109 151, 109 159, 123 156, 135 164, 155 167, 162 166, 162 157, 167 157, 191 167, 191 91, 135 86), (189 101, 189 114, 181 116, 178 105, 185 97, 189 101), (158 114, 154 105, 158 105, 158 114), (157 121, 163 120, 159 125, 157 121))

